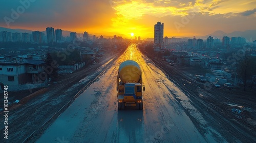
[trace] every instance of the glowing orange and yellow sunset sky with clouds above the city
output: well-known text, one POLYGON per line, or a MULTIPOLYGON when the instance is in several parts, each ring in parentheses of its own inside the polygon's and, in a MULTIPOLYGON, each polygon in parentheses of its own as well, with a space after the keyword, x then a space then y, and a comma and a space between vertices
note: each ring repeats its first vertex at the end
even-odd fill
POLYGON ((0 0, 0 11, 0 27, 123 38, 154 37, 158 21, 167 37, 256 29, 256 0, 0 0))

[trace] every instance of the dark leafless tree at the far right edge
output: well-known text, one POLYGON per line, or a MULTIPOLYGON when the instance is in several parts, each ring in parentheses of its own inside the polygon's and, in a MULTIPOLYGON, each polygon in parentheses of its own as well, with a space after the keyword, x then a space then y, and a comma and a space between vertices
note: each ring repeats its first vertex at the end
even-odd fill
POLYGON ((246 54, 238 64, 238 74, 244 84, 244 91, 246 90, 247 81, 251 80, 252 76, 256 74, 255 66, 255 58, 251 57, 249 54, 246 54))

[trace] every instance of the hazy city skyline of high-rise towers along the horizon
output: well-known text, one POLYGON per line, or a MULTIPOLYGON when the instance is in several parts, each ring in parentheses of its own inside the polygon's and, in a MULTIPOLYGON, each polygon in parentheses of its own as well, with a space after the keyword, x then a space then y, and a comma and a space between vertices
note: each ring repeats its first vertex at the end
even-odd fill
MULTIPOLYGON (((256 40, 252 40, 252 38, 248 40, 241 35, 226 36, 228 34, 223 34, 223 32, 221 32, 221 31, 215 32, 217 34, 221 34, 221 37, 220 37, 220 35, 212 37, 212 35, 210 34, 209 37, 203 38, 204 40, 201 39, 201 37, 197 38, 195 36, 193 37, 193 39, 191 39, 189 37, 183 37, 183 38, 169 37, 168 38, 167 36, 162 38, 163 31, 164 31, 163 23, 157 22, 157 24, 155 25, 155 29, 154 29, 154 33, 155 33, 154 38, 147 38, 145 40, 146 41, 148 41, 148 40, 154 41, 155 46, 160 46, 160 45, 163 46, 163 45, 168 45, 170 39, 172 39, 172 40, 180 39, 178 41, 181 41, 181 40, 186 41, 186 39, 188 39, 187 43, 189 46, 198 45, 199 47, 202 47, 202 42, 205 41, 207 44, 206 45, 207 49, 211 48, 214 43, 220 43, 220 39, 222 39, 222 43, 225 46, 227 46, 229 43, 230 44, 241 44, 241 43, 246 43, 246 42, 254 43, 256 41, 256 40), (226 39, 226 40, 223 40, 223 39, 226 39)), ((251 31, 251 32, 254 32, 254 31, 251 31)), ((66 31, 66 32, 68 32, 68 31, 66 31)), ((0 30, 0 42, 32 42, 32 43, 53 44, 53 43, 69 42, 69 41, 74 41, 74 40, 81 40, 83 42, 87 42, 87 41, 96 41, 98 39, 102 39, 102 40, 108 39, 108 40, 113 40, 114 42, 116 42, 119 38, 122 39, 122 36, 117 37, 117 35, 112 36, 112 38, 111 37, 105 38, 104 36, 100 35, 100 38, 97 37, 97 39, 96 39, 96 35, 91 35, 92 36, 91 37, 92 39, 91 39, 88 32, 86 32, 86 31, 83 34, 77 34, 76 32, 70 32, 69 36, 64 37, 62 35, 61 29, 56 29, 54 32, 54 28, 52 28, 52 27, 46 28, 46 31, 31 31, 32 34, 29 34, 29 33, 30 32, 28 32, 28 33, 27 32, 10 32, 8 30, 6 30, 6 31, 0 30), (35 34, 35 33, 39 33, 39 35, 35 34), (40 37, 40 38, 38 39, 38 37, 40 37), (50 38, 50 40, 49 40, 49 38, 50 38)), ((214 34, 214 33, 212 33, 212 34, 214 34)), ((131 36, 132 37, 130 38, 130 40, 137 41, 137 36, 134 36, 133 33, 131 33, 131 36)), ((126 39, 126 38, 124 38, 124 39, 126 39)), ((141 37, 138 36, 138 41, 140 41, 140 40, 141 40, 141 37)), ((176 41, 176 40, 174 40, 174 41, 176 41)))

